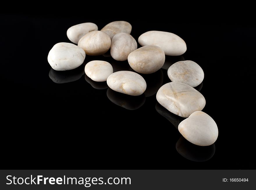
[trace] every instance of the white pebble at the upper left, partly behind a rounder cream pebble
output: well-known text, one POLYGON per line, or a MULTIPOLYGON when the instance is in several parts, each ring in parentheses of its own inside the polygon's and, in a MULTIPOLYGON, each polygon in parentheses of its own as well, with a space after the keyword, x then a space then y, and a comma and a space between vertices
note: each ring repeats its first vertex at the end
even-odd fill
POLYGON ((77 44, 81 37, 95 30, 98 30, 96 24, 91 22, 81 23, 67 29, 67 37, 70 41, 77 44))

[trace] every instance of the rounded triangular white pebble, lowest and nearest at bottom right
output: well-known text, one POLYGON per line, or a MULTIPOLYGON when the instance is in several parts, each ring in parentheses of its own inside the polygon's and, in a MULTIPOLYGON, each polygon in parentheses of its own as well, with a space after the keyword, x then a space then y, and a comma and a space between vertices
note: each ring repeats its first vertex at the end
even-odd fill
POLYGON ((194 112, 178 126, 179 132, 189 142, 199 146, 212 145, 218 138, 215 121, 205 112, 194 112))

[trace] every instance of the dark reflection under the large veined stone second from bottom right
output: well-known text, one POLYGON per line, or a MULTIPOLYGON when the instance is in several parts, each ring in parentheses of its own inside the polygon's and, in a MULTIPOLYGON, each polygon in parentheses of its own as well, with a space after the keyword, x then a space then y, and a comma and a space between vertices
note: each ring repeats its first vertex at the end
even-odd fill
POLYGON ((184 119, 183 117, 177 116, 171 112, 169 112, 166 108, 164 108, 161 104, 157 102, 156 104, 156 110, 159 114, 164 116, 166 119, 168 119, 174 127, 178 130, 178 125, 180 122, 182 122, 184 119))

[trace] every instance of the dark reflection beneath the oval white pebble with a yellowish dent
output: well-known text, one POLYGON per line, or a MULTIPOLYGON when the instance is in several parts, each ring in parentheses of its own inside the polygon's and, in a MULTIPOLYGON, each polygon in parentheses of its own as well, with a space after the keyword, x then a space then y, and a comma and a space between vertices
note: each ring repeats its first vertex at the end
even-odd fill
POLYGON ((138 109, 145 103, 146 99, 144 94, 140 96, 130 96, 120 92, 115 92, 111 88, 107 90, 107 97, 114 104, 129 110, 138 109))

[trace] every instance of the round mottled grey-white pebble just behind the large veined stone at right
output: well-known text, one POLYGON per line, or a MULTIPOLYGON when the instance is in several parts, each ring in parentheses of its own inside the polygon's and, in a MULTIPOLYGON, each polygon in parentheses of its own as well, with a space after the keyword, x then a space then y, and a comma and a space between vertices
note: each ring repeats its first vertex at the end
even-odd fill
POLYGON ((196 87, 204 80, 204 71, 194 61, 178 61, 168 69, 168 77, 173 82, 185 83, 196 87))

